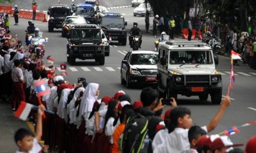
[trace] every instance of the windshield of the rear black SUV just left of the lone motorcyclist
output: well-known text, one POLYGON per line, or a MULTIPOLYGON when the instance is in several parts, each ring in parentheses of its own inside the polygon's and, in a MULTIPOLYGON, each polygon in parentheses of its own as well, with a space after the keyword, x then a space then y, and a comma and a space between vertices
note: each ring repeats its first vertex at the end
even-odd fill
POLYGON ((101 25, 109 27, 124 27, 124 18, 102 17, 101 25))

